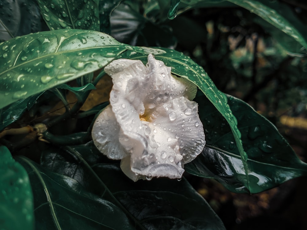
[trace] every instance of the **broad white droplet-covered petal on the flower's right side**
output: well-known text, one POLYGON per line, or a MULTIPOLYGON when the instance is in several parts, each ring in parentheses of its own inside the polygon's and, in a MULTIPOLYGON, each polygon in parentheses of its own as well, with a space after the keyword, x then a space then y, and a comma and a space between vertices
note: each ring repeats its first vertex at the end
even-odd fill
POLYGON ((154 139, 161 143, 160 148, 179 151, 183 164, 195 159, 206 143, 197 111, 196 102, 180 97, 157 107, 150 115, 149 126, 156 133, 154 139))

